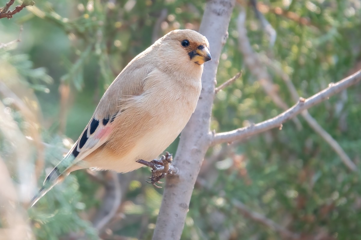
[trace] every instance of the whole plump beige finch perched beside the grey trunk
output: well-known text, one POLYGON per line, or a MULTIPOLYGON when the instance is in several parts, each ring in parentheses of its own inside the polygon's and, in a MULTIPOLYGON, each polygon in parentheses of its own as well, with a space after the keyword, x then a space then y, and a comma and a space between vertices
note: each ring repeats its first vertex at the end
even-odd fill
POLYGON ((93 116, 30 201, 32 207, 78 169, 130 172, 159 156, 195 111, 209 42, 193 30, 173 30, 135 56, 105 91, 93 116))

